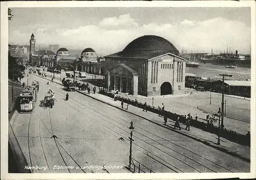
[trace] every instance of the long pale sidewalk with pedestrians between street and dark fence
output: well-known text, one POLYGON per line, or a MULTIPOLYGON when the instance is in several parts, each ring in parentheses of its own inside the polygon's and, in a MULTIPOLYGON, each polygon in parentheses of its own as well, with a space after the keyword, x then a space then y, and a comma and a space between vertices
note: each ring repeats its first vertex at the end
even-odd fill
MULTIPOLYGON (((36 74, 34 74, 34 75, 36 75, 36 74)), ((36 76, 38 76, 38 75, 36 75, 36 76)), ((44 78, 44 79, 47 79, 50 81, 50 78, 44 78)), ((59 80, 54 80, 54 82, 61 84, 61 82, 59 80)), ((186 131, 186 130, 184 130, 185 125, 183 125, 183 124, 181 124, 182 130, 174 130, 175 122, 173 120, 168 119, 167 124, 164 125, 163 117, 159 117, 155 113, 143 112, 142 109, 134 107, 132 105, 130 105, 128 110, 126 110, 126 107, 127 107, 126 104, 124 104, 124 109, 122 109, 121 102, 115 101, 111 97, 108 97, 108 96, 105 96, 105 95, 102 95, 99 93, 87 94, 87 91, 79 91, 79 90, 76 90, 76 91, 79 93, 82 93, 84 95, 90 96, 96 100, 102 101, 105 104, 116 107, 123 111, 127 111, 127 112, 134 114, 136 116, 139 116, 145 120, 151 121, 159 126, 169 129, 170 131, 175 131, 175 132, 182 134, 186 137, 190 137, 190 138, 200 141, 206 145, 209 145, 211 147, 214 147, 221 151, 229 153, 232 156, 237 156, 237 157, 244 159, 247 162, 250 162, 250 147, 249 146, 240 145, 240 144, 228 141, 224 138, 221 138, 221 144, 217 145, 218 136, 215 134, 205 132, 205 131, 195 128, 193 126, 190 126, 190 131, 186 131)), ((98 91, 98 88, 97 88, 97 91, 98 91)), ((137 100, 138 100, 138 98, 137 98, 137 100)), ((200 121, 200 119, 199 119, 199 121, 200 121)))

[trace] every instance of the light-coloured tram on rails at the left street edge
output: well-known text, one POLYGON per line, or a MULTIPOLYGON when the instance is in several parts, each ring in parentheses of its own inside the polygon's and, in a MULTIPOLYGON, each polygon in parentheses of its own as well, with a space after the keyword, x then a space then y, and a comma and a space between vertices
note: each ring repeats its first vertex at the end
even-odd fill
POLYGON ((36 90, 33 87, 28 87, 19 94, 19 113, 33 111, 36 102, 36 95, 36 90))

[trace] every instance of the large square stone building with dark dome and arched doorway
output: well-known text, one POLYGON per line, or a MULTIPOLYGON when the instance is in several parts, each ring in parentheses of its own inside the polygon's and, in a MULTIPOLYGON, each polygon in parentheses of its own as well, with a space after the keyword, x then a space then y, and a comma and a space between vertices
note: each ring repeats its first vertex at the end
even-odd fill
POLYGON ((104 58, 109 90, 144 96, 184 93, 186 59, 162 37, 139 37, 104 58))

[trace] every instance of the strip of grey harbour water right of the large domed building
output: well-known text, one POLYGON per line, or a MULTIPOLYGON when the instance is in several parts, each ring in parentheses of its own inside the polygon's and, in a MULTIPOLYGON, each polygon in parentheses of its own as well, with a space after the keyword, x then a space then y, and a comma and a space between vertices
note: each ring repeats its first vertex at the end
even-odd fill
POLYGON ((210 63, 200 63, 198 67, 186 67, 186 73, 193 73, 199 77, 221 79, 221 73, 232 74, 232 78, 225 77, 228 80, 246 81, 251 79, 251 68, 237 67, 226 68, 225 65, 216 65, 210 63))

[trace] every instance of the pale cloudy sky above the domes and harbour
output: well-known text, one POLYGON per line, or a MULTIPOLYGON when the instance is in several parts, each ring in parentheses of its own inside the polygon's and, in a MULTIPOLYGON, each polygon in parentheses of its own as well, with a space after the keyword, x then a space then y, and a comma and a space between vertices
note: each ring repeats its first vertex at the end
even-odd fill
POLYGON ((250 54, 250 8, 11 8, 9 44, 68 49, 91 47, 102 56, 120 52, 144 35, 161 36, 181 52, 250 54))

